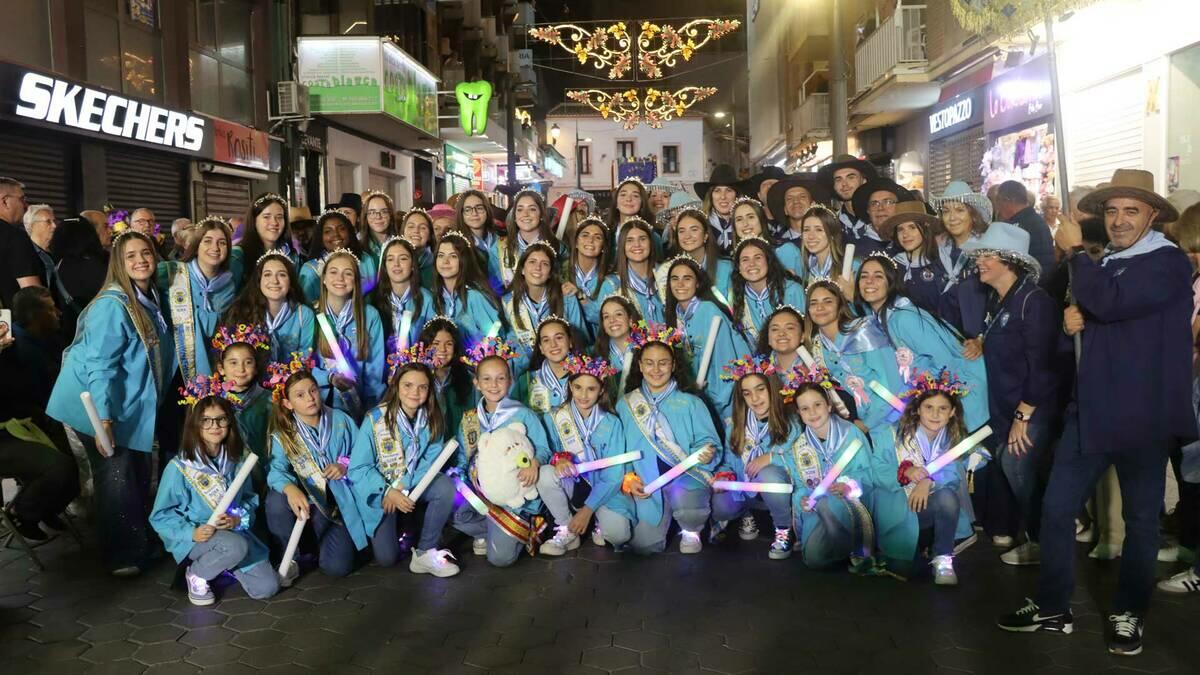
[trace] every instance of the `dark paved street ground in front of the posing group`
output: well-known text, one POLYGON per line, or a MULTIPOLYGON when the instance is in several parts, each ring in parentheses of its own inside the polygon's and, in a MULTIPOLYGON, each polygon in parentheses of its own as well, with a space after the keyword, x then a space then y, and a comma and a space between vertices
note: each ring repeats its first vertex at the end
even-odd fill
MULTIPOLYGON (((456 542, 452 579, 366 566, 310 572, 270 602, 233 585, 211 608, 172 589, 163 562, 132 580, 100 572, 70 538, 37 572, 0 551, 0 671, 26 673, 1196 673, 1200 598, 1156 598, 1146 652, 1104 651, 1116 565, 1080 560, 1073 635, 992 627, 1034 584, 980 543, 961 585, 900 583, 768 561, 766 539, 700 556, 563 558, 490 568, 456 542)), ((1082 549, 1080 551, 1084 552, 1082 549)), ((1162 574, 1171 569, 1160 568, 1162 574)))

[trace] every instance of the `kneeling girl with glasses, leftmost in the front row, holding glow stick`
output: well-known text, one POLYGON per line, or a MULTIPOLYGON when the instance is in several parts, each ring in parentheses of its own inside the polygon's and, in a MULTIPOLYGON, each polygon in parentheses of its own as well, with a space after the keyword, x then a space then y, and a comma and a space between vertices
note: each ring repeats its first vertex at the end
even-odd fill
POLYGON ((227 569, 246 595, 264 599, 280 591, 266 546, 250 532, 258 508, 251 480, 238 490, 229 509, 208 525, 212 510, 241 466, 244 447, 227 387, 212 380, 185 390, 192 407, 184 422, 179 454, 163 470, 150 525, 176 562, 187 562, 187 598, 194 605, 216 602, 209 581, 227 569))

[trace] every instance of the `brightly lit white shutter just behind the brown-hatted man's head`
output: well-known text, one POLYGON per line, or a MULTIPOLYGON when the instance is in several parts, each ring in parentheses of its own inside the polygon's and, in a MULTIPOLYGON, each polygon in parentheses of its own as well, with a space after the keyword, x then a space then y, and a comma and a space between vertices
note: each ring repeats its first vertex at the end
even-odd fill
POLYGON ((1096 84, 1066 98, 1069 101, 1066 133, 1072 185, 1106 183, 1118 168, 1142 168, 1146 90, 1141 71, 1096 84))

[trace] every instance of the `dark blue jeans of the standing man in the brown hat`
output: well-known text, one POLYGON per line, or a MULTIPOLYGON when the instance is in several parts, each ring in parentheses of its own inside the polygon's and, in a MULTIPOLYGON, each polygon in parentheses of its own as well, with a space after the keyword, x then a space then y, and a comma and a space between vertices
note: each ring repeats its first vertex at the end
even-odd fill
POLYGON ((1116 611, 1145 613, 1154 589, 1158 560, 1158 512, 1166 483, 1166 449, 1141 453, 1084 453, 1079 417, 1070 414, 1055 449, 1054 468, 1042 508, 1042 568, 1037 602, 1044 614, 1070 608, 1075 589, 1075 514, 1109 466, 1121 482, 1126 540, 1121 555, 1116 611))

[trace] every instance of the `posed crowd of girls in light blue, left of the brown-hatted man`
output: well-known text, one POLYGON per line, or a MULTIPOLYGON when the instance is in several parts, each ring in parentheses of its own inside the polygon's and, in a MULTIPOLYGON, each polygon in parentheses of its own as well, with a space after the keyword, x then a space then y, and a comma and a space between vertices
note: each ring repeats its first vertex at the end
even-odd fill
POLYGON ((227 572, 252 597, 368 560, 451 577, 457 537, 502 567, 742 540, 954 585, 980 531, 1036 561, 1070 344, 1027 232, 853 159, 613 195, 502 216, 467 191, 436 223, 367 193, 313 257, 276 195, 240 243, 202 220, 182 262, 119 235, 49 405, 109 569, 161 540, 208 604, 227 572))

